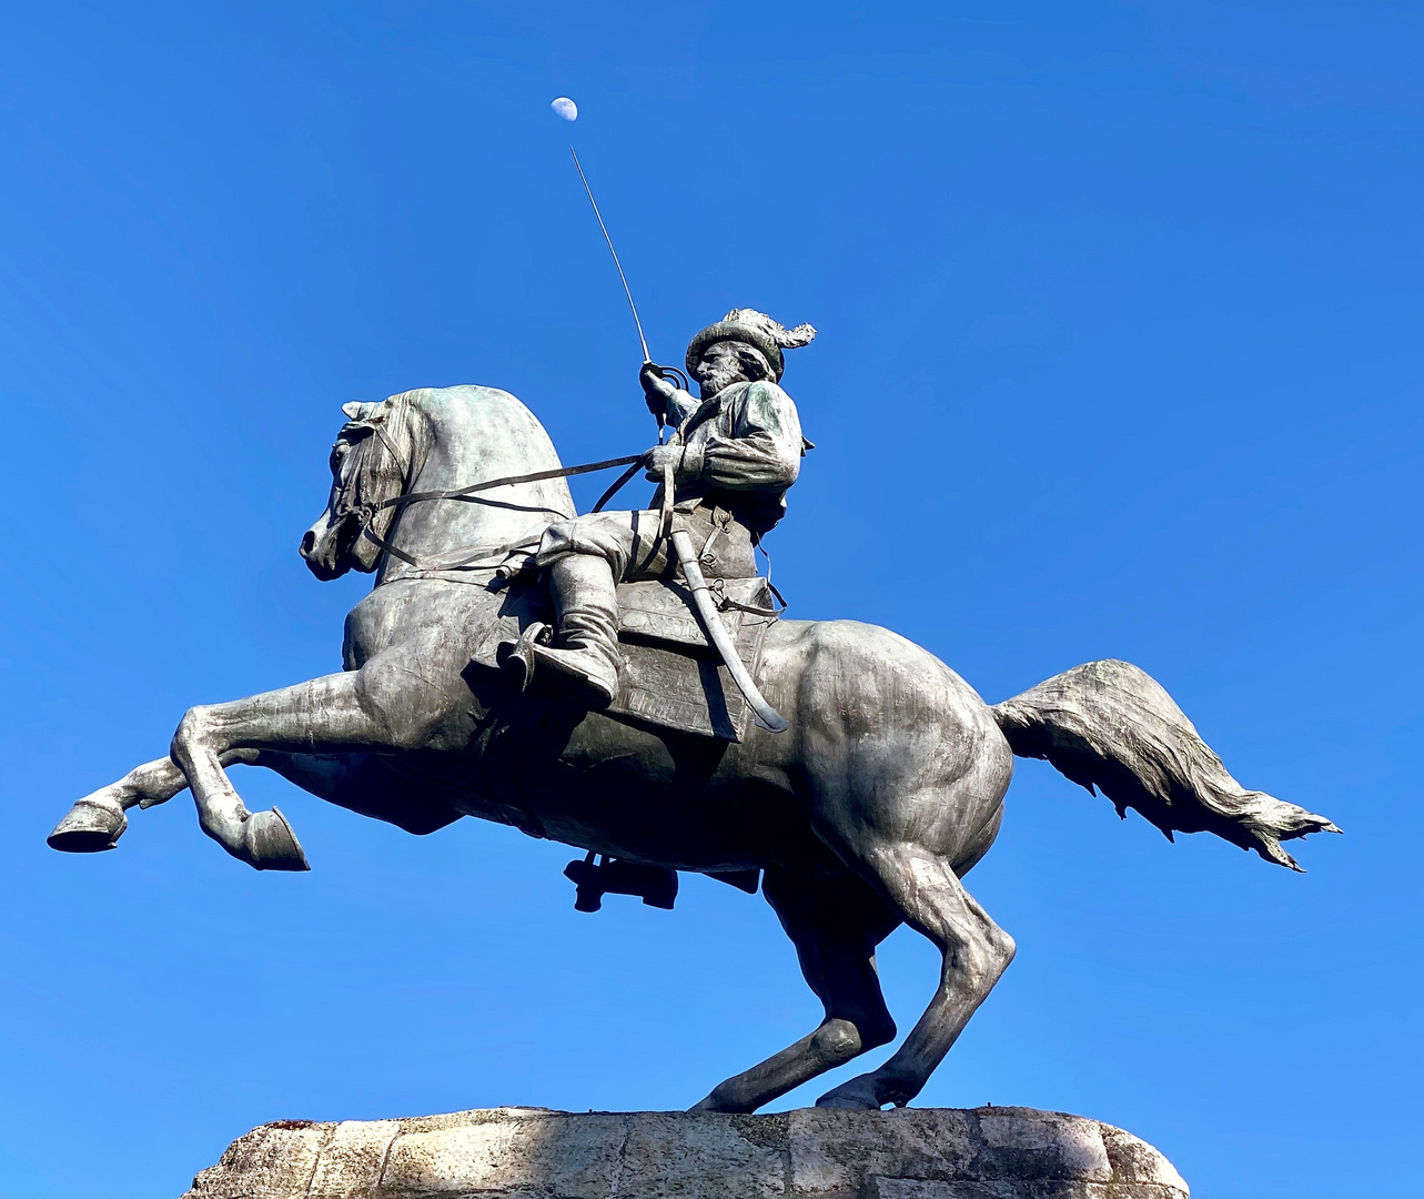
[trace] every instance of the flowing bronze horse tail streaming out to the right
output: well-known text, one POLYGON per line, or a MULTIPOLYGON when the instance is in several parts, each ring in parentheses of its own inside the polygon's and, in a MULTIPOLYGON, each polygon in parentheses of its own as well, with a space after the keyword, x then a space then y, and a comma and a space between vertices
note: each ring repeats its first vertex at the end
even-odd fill
POLYGON ((1340 832, 1324 816, 1246 790, 1172 696, 1131 662, 1074 666, 991 711, 1015 755, 1044 758, 1075 783, 1101 790, 1124 819, 1135 807, 1168 840, 1172 833, 1216 833, 1300 870, 1282 842, 1340 832))

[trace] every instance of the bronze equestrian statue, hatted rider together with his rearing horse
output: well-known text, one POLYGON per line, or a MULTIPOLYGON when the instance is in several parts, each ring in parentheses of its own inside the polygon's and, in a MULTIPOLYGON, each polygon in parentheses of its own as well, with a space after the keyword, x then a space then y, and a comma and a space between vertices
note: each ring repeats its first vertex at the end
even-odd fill
POLYGON ((738 594, 763 591, 753 554, 809 447, 780 379, 785 352, 813 336, 809 325, 787 330, 733 309, 688 347, 699 400, 674 386, 675 372, 645 362, 648 404, 675 434, 608 463, 560 464, 535 416, 496 387, 420 387, 347 407, 326 507, 300 541, 318 578, 379 571, 347 615, 345 669, 189 708, 167 756, 81 797, 48 843, 112 849, 127 812, 189 789, 204 832, 235 859, 309 869, 278 809, 244 805, 226 775, 242 763, 412 833, 476 816, 561 840, 588 854, 565 870, 585 911, 609 890, 668 907, 676 871, 759 889, 824 1020, 696 1106, 752 1112, 896 1040, 874 961, 901 924, 940 953, 930 1004, 881 1065, 817 1104, 879 1111, 920 1094, 1014 957, 1012 937, 963 879, 994 842, 1015 756, 1048 759, 1169 837, 1212 832, 1292 869, 1282 842, 1339 832, 1245 789, 1129 662, 1087 662, 990 706, 890 629, 783 621, 736 600, 738 580, 748 581, 738 594), (483 478, 470 478, 471 460, 483 478), (574 511, 565 477, 612 466, 659 480, 656 510, 564 518, 574 511), (528 488, 518 493, 527 503, 449 503, 514 484, 528 488), (560 520, 531 528, 531 510, 560 520), (504 587, 530 562, 553 595, 551 645, 541 644, 548 605, 538 590, 504 587), (705 575, 726 580, 716 605, 705 575), (691 601, 705 641, 641 644, 646 634, 625 621, 619 644, 619 582, 644 584, 625 588, 624 617, 652 597, 666 607, 648 611, 671 625, 682 614, 668 608, 691 601), (738 621, 756 618, 738 632, 760 638, 745 662, 722 624, 738 608, 738 621), (716 669, 746 701, 740 728, 692 728, 729 698, 721 675, 703 684, 702 646, 716 649, 716 669), (496 671, 518 692, 545 676, 554 702, 523 706, 496 671), (662 715, 632 708, 635 693, 664 703, 662 715))

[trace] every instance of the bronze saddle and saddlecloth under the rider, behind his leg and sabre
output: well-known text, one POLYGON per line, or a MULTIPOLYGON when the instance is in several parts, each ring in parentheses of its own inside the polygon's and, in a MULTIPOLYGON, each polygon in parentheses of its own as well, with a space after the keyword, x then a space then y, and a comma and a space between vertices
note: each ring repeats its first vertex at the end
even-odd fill
MULTIPOLYGON (((776 604, 765 578, 709 580, 732 644, 756 678, 766 629, 776 604)), ((510 642, 533 622, 553 622, 553 605, 537 584, 511 588, 473 661, 498 669, 510 642), (501 649, 501 646, 504 646, 501 649)), ((739 742, 752 725, 752 709, 716 649, 708 642, 681 581, 618 584, 618 644, 622 668, 618 693, 605 716, 631 725, 675 729, 739 742)))

